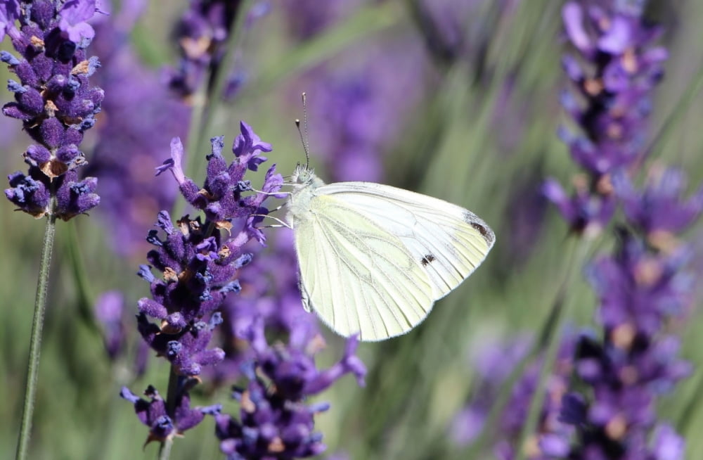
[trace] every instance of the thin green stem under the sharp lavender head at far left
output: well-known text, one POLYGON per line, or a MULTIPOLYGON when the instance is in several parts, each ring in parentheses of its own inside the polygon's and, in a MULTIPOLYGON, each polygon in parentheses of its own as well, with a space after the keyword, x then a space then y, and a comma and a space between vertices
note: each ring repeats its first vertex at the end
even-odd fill
MULTIPOLYGON (((53 206, 52 206, 53 207, 53 206)), ((17 440, 15 459, 27 459, 27 450, 32 433, 32 415, 34 414, 34 399, 37 396, 37 374, 39 373, 39 355, 41 354, 41 329, 44 328, 44 313, 46 312, 46 291, 49 286, 49 268, 53 253, 53 241, 56 236, 56 216, 46 219, 44 244, 41 248, 39 264, 39 279, 37 280, 37 295, 34 298, 34 319, 32 320, 32 336, 30 336, 30 356, 27 364, 27 387, 25 388, 25 403, 22 407, 22 426, 17 440)))

